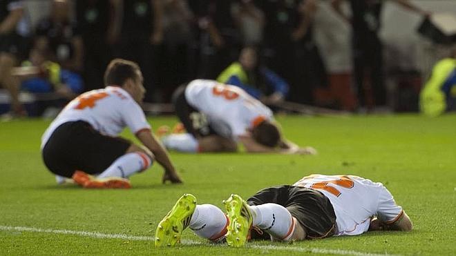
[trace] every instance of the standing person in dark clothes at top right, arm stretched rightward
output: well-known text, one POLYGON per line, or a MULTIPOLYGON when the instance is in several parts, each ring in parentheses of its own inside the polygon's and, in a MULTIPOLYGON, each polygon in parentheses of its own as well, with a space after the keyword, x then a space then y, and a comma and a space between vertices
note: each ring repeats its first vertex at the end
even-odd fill
MULTIPOLYGON (((412 6, 408 0, 393 0, 407 10, 428 15, 428 12, 412 6)), ((352 55, 354 85, 357 88, 359 107, 373 108, 386 105, 386 89, 383 74, 383 46, 378 32, 381 28, 380 0, 332 0, 332 7, 343 20, 352 25, 352 55), (352 16, 341 8, 343 1, 350 2, 352 16), (368 80, 366 83, 366 79, 368 80), (374 102, 367 104, 365 90, 368 86, 374 92, 374 102), (370 106, 369 106, 370 105, 370 106)))

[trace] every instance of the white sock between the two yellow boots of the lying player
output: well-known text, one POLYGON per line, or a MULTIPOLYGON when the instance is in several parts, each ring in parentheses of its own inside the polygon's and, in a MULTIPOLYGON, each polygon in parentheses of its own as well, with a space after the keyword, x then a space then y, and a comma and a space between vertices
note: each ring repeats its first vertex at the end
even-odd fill
POLYGON ((197 205, 190 219, 189 228, 196 235, 216 241, 227 233, 228 218, 217 206, 197 205))

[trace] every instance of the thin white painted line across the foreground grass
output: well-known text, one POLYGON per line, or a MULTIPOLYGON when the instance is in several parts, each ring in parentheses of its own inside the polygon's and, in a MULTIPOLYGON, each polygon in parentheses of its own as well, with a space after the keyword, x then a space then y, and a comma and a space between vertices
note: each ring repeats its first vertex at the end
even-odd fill
MULTIPOLYGON (((135 235, 124 235, 124 234, 105 234, 98 232, 90 231, 76 231, 76 230, 66 230, 66 229, 51 229, 51 228, 33 228, 25 226, 0 226, 0 230, 7 231, 24 231, 24 232, 34 232, 34 233, 53 233, 61 235, 78 235, 80 237, 93 237, 98 239, 122 239, 122 240, 135 240, 135 241, 153 241, 154 237, 146 236, 135 236, 135 235)), ((202 244, 198 241, 185 239, 182 241, 182 244, 202 244)), ((319 253, 319 254, 334 254, 334 255, 357 255, 357 256, 381 256, 387 254, 375 254, 375 253, 362 253, 354 250, 339 250, 339 249, 325 249, 325 248, 301 248, 301 247, 292 247, 292 246, 256 246, 248 245, 248 248, 260 249, 260 250, 289 250, 294 252, 302 253, 319 253)), ((390 255, 390 254, 388 254, 390 255)), ((397 256, 397 255, 395 255, 397 256)))

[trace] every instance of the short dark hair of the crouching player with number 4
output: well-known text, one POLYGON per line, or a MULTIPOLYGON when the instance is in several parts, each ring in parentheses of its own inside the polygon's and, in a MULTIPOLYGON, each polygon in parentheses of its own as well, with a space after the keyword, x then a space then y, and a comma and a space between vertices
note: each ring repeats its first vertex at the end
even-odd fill
POLYGON ((137 79, 140 66, 126 59, 113 59, 104 72, 104 86, 122 86, 127 79, 137 79))

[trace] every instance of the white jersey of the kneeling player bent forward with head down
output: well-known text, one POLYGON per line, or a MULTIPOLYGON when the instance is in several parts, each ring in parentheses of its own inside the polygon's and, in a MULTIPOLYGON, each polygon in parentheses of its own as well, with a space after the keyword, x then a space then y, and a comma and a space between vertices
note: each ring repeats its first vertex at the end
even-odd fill
POLYGON ((243 89, 213 80, 191 81, 185 98, 193 108, 205 114, 211 124, 225 124, 230 133, 225 137, 235 140, 260 120, 273 119, 272 111, 243 89))

